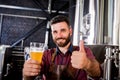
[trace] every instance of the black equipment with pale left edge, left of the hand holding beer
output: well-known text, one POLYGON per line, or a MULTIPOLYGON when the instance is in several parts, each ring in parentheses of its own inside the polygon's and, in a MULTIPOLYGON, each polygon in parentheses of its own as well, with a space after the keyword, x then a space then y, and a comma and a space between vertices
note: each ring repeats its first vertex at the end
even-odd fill
POLYGON ((23 48, 0 45, 0 80, 21 80, 23 48))

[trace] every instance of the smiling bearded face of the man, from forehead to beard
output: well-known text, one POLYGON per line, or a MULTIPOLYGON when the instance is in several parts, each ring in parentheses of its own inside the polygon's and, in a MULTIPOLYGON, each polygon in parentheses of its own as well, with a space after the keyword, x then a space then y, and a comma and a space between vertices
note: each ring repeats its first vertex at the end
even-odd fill
POLYGON ((51 25, 53 41, 58 47, 65 47, 72 36, 72 29, 66 22, 59 22, 51 25))

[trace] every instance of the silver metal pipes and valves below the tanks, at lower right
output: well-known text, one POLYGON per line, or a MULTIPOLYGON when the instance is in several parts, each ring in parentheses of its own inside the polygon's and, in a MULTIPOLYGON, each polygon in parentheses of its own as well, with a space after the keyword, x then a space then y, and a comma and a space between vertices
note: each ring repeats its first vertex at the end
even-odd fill
POLYGON ((103 80, 118 80, 118 79, 120 79, 118 76, 118 73, 119 73, 119 71, 118 71, 118 69, 119 69, 119 54, 120 54, 119 52, 120 52, 120 50, 119 50, 118 45, 106 46, 103 80), (114 72, 112 73, 113 66, 115 66, 114 68, 116 68, 116 71, 114 69, 114 72))

